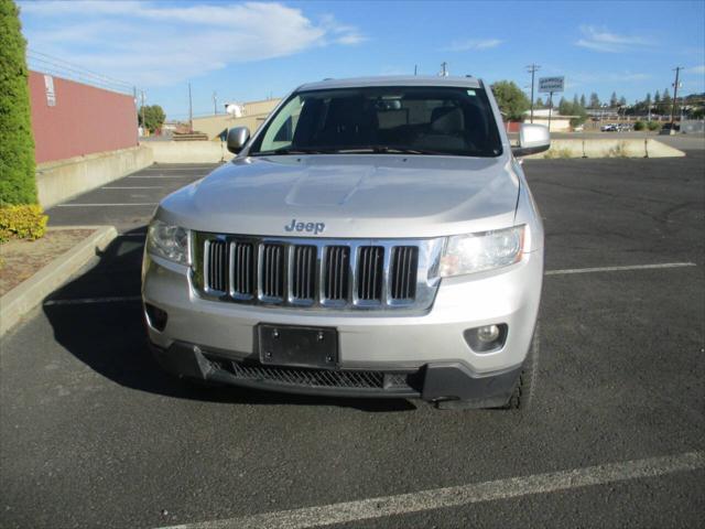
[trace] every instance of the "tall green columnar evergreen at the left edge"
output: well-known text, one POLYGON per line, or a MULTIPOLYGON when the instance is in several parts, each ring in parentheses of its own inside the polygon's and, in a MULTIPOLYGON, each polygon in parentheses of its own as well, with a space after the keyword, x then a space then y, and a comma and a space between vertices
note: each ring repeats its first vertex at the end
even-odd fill
POLYGON ((0 206, 36 203, 25 47, 17 6, 0 0, 0 206))

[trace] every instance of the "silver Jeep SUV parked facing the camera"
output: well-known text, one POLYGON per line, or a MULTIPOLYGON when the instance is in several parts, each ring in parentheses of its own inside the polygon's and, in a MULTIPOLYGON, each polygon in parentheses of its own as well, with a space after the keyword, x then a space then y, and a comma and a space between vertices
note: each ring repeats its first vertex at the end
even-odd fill
POLYGON ((299 87, 237 156, 162 201, 142 298, 160 364, 292 393, 516 407, 530 367, 543 226, 473 77, 299 87))

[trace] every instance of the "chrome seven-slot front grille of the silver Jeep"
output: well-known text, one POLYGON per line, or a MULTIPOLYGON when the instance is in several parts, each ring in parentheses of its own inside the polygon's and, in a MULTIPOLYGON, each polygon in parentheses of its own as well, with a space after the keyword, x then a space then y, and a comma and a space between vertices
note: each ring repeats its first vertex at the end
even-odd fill
POLYGON ((427 309, 442 239, 305 239, 194 233, 206 299, 311 309, 427 309))

